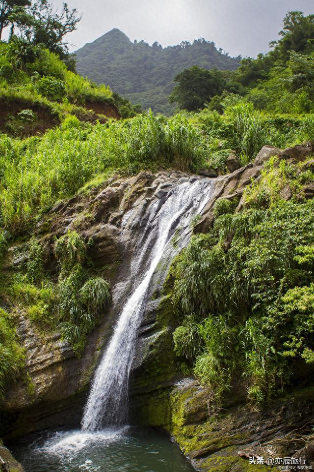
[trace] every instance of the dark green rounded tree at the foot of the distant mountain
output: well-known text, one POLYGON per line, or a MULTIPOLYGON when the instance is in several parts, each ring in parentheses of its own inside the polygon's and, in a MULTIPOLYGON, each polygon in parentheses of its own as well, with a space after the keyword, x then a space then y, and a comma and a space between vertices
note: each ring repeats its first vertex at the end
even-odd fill
POLYGON ((170 103, 177 102, 188 111, 202 108, 214 95, 220 95, 225 87, 223 74, 218 69, 201 69, 197 65, 183 70, 174 81, 178 83, 169 96, 170 103))

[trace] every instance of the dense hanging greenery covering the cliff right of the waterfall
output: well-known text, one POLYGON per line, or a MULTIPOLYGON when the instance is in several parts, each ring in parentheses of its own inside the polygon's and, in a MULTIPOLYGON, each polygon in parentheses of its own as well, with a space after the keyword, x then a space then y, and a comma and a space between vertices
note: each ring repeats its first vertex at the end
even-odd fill
POLYGON ((193 236, 172 269, 175 349, 218 393, 242 374, 259 405, 293 382, 302 359, 314 362, 314 200, 302 197, 310 173, 271 158, 243 209, 218 200, 213 229, 193 236))

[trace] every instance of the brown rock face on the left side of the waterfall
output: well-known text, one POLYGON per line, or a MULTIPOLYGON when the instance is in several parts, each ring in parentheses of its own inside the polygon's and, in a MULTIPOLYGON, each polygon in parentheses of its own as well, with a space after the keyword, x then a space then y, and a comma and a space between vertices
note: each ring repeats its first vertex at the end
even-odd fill
MULTIPOLYGON (((131 256, 147 218, 154 218, 150 208, 157 211, 174 185, 192 182, 196 178, 203 177, 180 172, 160 172, 157 175, 143 172, 131 178, 112 178, 103 186, 89 189, 86 194, 58 203, 38 223, 35 235, 47 248, 49 258, 46 266, 52 277, 57 266, 53 254, 55 236, 62 236, 68 230, 75 229, 85 240, 92 238, 93 245, 88 249, 88 256, 96 268, 105 271, 106 278, 110 280, 112 304, 99 326, 89 336, 84 352, 79 357, 61 339, 58 332, 44 334, 23 314, 19 315, 17 332, 26 349, 26 365, 18 382, 7 392, 2 406, 3 437, 25 434, 49 426, 79 423, 98 357, 112 332, 126 296, 132 291, 136 274, 130 272, 131 256), (154 202, 158 203, 157 206, 150 205, 154 202), (126 224, 124 215, 127 212, 128 215, 131 214, 131 218, 127 219, 126 224)), ((176 250, 187 241, 187 237, 188 234, 183 235, 176 250)), ((149 247, 147 250, 149 251, 149 247)), ((21 245, 10 248, 7 270, 25 263, 21 253, 23 254, 21 245)), ((170 261, 171 258, 157 270, 151 293, 157 293, 162 286, 170 261)), ((148 330, 155 323, 153 317, 154 315, 147 321, 145 328, 141 328, 141 334, 144 335, 146 330, 147 336, 148 330)), ((169 335, 171 332, 169 331, 169 335)), ((140 337, 140 340, 143 339, 140 337)), ((142 343, 143 351, 149 349, 151 340, 148 341, 142 343)), ((139 352, 138 358, 141 356, 139 352)), ((138 360, 135 361, 135 365, 137 364, 138 360)))

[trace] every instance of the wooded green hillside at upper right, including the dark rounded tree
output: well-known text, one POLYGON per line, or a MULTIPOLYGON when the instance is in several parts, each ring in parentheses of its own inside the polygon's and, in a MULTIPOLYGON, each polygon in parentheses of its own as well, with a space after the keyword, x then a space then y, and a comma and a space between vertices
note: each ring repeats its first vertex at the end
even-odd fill
POLYGON ((242 59, 235 71, 208 71, 204 66, 183 70, 174 79, 178 85, 170 101, 189 111, 207 106, 223 113, 236 101, 244 101, 269 112, 313 112, 314 15, 288 12, 280 35, 269 53, 242 59))

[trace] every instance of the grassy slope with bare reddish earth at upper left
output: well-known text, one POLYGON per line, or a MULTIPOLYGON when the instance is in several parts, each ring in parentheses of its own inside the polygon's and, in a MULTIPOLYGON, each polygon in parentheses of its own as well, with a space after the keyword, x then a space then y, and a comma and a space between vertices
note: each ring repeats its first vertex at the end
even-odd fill
POLYGON ((68 114, 82 121, 120 118, 112 92, 96 86, 48 50, 14 38, 0 42, 0 130, 13 137, 42 134, 68 114))

